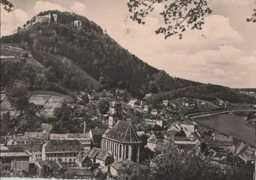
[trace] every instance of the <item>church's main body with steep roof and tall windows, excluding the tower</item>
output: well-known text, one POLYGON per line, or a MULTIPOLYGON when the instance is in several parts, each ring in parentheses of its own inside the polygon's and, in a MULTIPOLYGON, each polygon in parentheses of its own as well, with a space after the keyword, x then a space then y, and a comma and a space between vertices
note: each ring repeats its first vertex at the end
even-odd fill
POLYGON ((102 135, 101 149, 112 152, 114 160, 128 159, 139 161, 142 141, 131 122, 118 120, 117 123, 102 135))

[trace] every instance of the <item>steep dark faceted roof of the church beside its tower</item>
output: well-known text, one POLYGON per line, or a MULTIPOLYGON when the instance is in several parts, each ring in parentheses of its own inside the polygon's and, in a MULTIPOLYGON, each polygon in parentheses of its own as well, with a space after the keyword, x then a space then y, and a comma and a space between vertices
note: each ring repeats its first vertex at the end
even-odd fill
POLYGON ((141 143, 139 136, 134 130, 131 122, 118 120, 117 123, 107 130, 102 138, 108 138, 122 143, 141 143))

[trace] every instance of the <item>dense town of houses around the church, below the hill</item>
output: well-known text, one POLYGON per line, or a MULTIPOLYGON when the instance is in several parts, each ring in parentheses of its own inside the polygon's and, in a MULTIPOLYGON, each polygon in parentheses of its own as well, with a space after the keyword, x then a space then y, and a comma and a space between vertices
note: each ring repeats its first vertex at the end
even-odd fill
MULTIPOLYGON (((199 102, 183 98, 179 99, 180 106, 177 100, 165 99, 155 106, 157 108, 152 108, 147 99, 153 94, 146 94, 141 101, 130 99, 125 104, 118 94, 117 90, 109 93, 112 100, 102 116, 102 127, 88 130, 84 121, 80 123, 83 133, 54 134, 50 124, 42 123, 41 132, 1 137, 1 173, 115 179, 125 174, 123 167, 144 166, 148 158, 156 156, 156 149, 168 142, 179 153, 208 157, 211 163, 224 167, 255 163, 253 145, 199 124, 193 118, 179 116, 181 107, 193 109, 199 102), (127 117, 128 110, 140 114, 142 122, 139 123, 147 129, 138 131, 127 117)), ((201 105, 206 103, 200 101, 201 105)))

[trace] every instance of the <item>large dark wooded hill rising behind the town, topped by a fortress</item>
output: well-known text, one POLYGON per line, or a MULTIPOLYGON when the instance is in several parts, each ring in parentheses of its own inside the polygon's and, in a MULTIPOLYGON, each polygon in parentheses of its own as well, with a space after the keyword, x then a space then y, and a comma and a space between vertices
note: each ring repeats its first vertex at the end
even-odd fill
MULTIPOLYGON (((30 52, 47 69, 47 82, 72 91, 125 89, 140 98, 153 92, 248 102, 236 90, 174 78, 148 65, 86 17, 56 10, 41 12, 38 16, 48 13, 57 14, 57 21, 51 18, 50 23, 28 24, 26 29, 1 38, 1 43, 11 43, 30 52), (81 21, 80 28, 74 26, 74 20, 81 21)), ((28 22, 33 21, 35 17, 28 22)))

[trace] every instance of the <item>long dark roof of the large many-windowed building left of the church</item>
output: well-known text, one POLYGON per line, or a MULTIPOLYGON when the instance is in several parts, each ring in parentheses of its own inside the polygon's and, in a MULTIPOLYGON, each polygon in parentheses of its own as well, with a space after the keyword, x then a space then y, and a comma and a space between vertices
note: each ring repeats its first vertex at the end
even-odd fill
POLYGON ((77 140, 49 140, 44 144, 45 152, 80 152, 82 144, 77 140))

